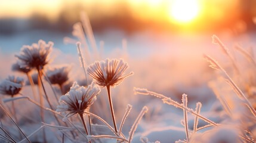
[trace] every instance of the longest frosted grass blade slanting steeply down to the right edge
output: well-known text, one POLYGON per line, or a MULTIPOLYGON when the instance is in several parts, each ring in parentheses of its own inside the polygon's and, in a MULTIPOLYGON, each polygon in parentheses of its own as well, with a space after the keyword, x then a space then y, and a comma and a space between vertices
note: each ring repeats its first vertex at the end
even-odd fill
POLYGON ((232 87, 232 89, 236 92, 236 94, 238 95, 238 97, 243 97, 243 100, 246 102, 247 107, 249 108, 249 110, 251 111, 251 113, 254 115, 254 117, 256 117, 256 111, 255 109, 252 107, 251 103, 249 102, 249 100, 245 97, 245 95, 243 94, 243 92, 238 88, 238 86, 235 84, 235 82, 233 82, 233 80, 231 79, 231 77, 229 76, 229 74, 227 74, 226 70, 224 70, 213 58, 209 57, 208 55, 204 55, 204 57, 206 58, 207 61, 209 61, 209 63, 211 64, 210 67, 214 67, 214 69, 223 71, 224 73, 224 77, 225 79, 227 79, 227 83, 229 83, 229 85, 232 87))

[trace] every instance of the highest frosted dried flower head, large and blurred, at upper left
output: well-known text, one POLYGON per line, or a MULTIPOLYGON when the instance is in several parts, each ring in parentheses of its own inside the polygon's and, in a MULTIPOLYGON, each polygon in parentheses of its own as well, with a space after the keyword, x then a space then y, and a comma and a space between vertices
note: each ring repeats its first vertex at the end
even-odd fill
POLYGON ((15 56, 18 58, 20 68, 43 69, 49 62, 48 55, 52 48, 53 42, 45 43, 45 41, 39 40, 38 43, 33 43, 31 46, 24 45, 21 48, 20 54, 15 56))

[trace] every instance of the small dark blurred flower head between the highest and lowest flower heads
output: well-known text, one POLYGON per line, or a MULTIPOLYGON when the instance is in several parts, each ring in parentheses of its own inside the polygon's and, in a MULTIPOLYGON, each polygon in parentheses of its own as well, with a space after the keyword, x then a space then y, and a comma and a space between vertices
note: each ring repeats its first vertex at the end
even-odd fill
POLYGON ((54 68, 47 71, 47 76, 52 84, 58 84, 61 86, 64 82, 69 80, 69 71, 69 67, 54 68))

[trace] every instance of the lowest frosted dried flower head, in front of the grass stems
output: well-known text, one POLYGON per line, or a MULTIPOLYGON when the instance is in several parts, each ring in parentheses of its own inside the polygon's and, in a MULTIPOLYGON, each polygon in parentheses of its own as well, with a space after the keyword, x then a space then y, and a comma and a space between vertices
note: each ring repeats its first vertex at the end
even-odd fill
POLYGON ((87 88, 79 86, 74 82, 70 91, 67 94, 60 97, 60 105, 57 106, 57 112, 67 111, 67 114, 63 118, 66 121, 67 118, 83 113, 85 109, 90 108, 90 105, 96 100, 96 95, 100 92, 100 88, 91 83, 87 88))

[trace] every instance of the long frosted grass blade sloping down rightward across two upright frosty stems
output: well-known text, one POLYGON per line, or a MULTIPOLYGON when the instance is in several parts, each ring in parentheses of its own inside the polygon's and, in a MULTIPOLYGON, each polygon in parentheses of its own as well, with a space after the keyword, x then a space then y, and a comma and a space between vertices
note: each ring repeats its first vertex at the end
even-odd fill
POLYGON ((173 105, 174 107, 184 109, 184 110, 188 111, 189 113, 198 116, 200 119, 204 120, 205 122, 207 122, 207 123, 209 123, 211 125, 214 125, 214 126, 218 126, 217 123, 212 122, 211 120, 207 119, 206 117, 203 117, 200 114, 196 113, 192 109, 184 107, 183 104, 179 104, 178 102, 172 100, 171 98, 165 97, 162 94, 157 94, 156 92, 148 91, 147 89, 141 89, 141 88, 134 88, 134 94, 152 95, 152 96, 161 98, 161 100, 165 104, 173 105))

